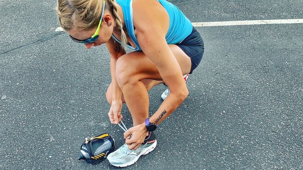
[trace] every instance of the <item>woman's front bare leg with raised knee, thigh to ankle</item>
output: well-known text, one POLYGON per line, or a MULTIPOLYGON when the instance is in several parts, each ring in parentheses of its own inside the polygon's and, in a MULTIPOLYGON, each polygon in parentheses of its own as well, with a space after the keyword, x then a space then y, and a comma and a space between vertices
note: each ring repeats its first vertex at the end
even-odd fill
MULTIPOLYGON (((190 58, 176 45, 169 45, 183 75, 190 72, 190 58)), ((165 56, 163 56, 165 57, 165 56)), ((142 124, 148 117, 148 92, 145 79, 162 81, 155 64, 142 51, 121 56, 116 63, 116 77, 124 100, 132 114, 133 125, 142 124)), ((150 83, 148 86, 156 83, 150 83)), ((151 87, 150 87, 151 88, 151 87)))

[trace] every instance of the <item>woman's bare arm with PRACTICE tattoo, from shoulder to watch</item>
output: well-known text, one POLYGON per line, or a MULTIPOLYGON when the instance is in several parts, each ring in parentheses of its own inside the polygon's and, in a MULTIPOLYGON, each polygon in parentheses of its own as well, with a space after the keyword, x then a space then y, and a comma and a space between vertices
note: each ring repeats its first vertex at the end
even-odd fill
POLYGON ((167 23, 169 23, 169 19, 165 16, 168 15, 166 11, 152 8, 155 5, 149 3, 154 2, 137 4, 140 8, 134 10, 134 16, 137 16, 134 18, 134 24, 135 35, 142 51, 155 64, 170 89, 168 97, 149 119, 150 122, 159 124, 182 103, 188 95, 188 90, 178 61, 165 40, 167 23))

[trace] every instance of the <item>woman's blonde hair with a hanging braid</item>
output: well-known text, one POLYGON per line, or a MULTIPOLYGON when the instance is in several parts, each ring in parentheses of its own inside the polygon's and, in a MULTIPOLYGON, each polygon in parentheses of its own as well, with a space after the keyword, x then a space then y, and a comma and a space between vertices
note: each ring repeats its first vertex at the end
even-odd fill
MULTIPOLYGON (((57 14, 62 29, 91 30, 97 27, 102 13, 103 0, 58 0, 57 14)), ((114 17, 116 27, 121 30, 122 48, 126 47, 127 38, 122 27, 122 21, 117 12, 115 0, 105 0, 105 10, 114 17)))

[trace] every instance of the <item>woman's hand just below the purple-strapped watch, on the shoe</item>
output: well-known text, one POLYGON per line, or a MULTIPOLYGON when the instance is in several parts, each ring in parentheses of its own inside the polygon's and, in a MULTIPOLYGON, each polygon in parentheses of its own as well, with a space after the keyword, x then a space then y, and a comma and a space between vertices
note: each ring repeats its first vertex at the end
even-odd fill
POLYGON ((144 142, 145 137, 148 135, 146 130, 145 123, 139 124, 137 126, 131 127, 124 133, 125 143, 128 146, 128 149, 137 149, 144 142), (132 138, 127 138, 132 134, 132 138))

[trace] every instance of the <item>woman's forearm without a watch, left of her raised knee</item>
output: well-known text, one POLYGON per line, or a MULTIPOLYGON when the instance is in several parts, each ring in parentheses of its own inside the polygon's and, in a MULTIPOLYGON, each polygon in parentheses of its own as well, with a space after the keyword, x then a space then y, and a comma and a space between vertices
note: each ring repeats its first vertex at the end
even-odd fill
POLYGON ((116 61, 117 59, 111 57, 110 59, 110 70, 112 76, 112 101, 121 100, 122 91, 118 86, 117 79, 116 79, 116 61))

